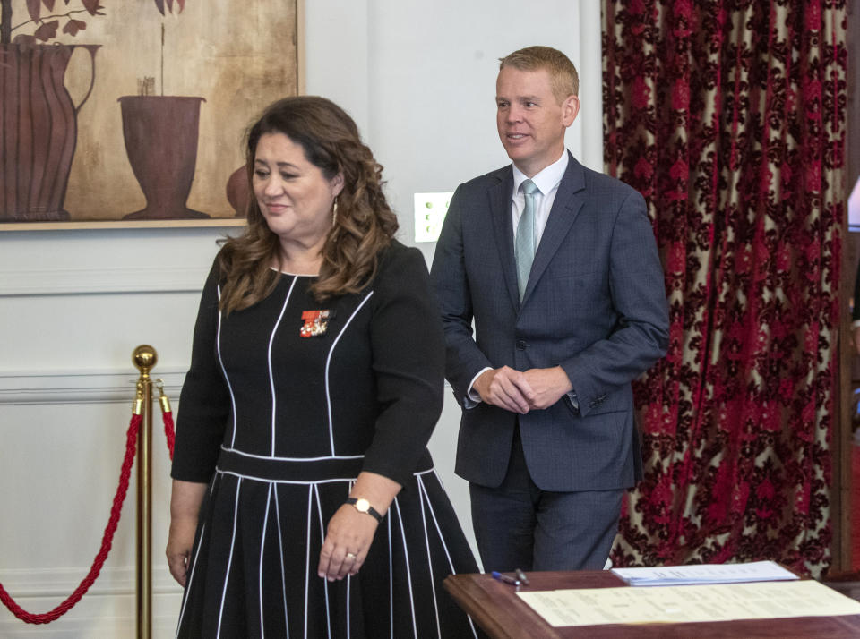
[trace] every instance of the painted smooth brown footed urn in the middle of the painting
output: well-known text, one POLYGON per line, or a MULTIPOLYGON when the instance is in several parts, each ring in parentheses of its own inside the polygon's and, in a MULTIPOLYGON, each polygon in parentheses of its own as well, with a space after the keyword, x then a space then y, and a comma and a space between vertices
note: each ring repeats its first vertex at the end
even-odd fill
POLYGON ((210 217, 186 206, 197 163, 200 103, 185 96, 123 96, 125 152, 146 207, 123 219, 210 217))

